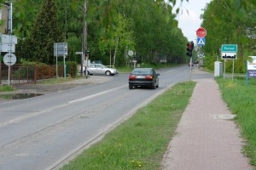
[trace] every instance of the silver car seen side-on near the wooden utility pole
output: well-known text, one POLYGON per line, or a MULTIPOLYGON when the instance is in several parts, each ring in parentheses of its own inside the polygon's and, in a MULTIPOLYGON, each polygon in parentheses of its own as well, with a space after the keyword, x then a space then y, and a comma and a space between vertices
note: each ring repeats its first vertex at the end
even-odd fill
MULTIPOLYGON (((84 75, 85 75, 85 67, 84 67, 84 75)), ((106 76, 114 76, 118 74, 119 71, 114 68, 108 68, 105 65, 102 64, 90 64, 90 66, 87 68, 87 74, 88 75, 106 75, 106 76)))

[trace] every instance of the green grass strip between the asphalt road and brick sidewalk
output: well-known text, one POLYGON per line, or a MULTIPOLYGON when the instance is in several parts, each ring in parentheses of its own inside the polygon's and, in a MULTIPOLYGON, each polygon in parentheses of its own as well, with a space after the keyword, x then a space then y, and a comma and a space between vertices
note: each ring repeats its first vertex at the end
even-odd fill
POLYGON ((168 89, 61 169, 159 169, 194 88, 181 82, 168 89))

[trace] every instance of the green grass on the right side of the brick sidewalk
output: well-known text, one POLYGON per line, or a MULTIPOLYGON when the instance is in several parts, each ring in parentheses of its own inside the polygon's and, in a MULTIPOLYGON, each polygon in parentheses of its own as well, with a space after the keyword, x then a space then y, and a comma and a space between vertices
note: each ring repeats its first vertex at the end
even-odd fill
POLYGON ((247 140, 244 154, 250 158, 250 163, 256 165, 256 79, 245 77, 231 79, 218 78, 219 88, 230 111, 236 114, 236 123, 241 129, 241 135, 247 140))

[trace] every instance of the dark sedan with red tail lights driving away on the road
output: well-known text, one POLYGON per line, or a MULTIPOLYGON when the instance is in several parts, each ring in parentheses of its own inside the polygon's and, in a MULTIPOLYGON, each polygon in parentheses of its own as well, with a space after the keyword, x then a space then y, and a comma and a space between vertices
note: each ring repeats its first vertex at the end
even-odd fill
POLYGON ((159 87, 159 76, 153 68, 136 68, 129 76, 129 89, 137 87, 159 87))

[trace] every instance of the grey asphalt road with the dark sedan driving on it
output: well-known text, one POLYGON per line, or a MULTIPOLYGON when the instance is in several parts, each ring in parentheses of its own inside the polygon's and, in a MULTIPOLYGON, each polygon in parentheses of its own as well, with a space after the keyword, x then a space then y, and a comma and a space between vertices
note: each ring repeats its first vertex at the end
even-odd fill
POLYGON ((160 69, 160 88, 129 89, 128 74, 53 94, 0 103, 0 170, 57 169, 177 82, 212 77, 160 69))

